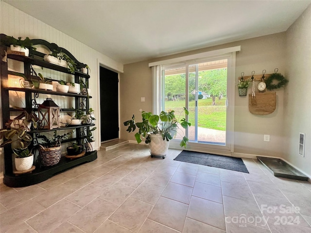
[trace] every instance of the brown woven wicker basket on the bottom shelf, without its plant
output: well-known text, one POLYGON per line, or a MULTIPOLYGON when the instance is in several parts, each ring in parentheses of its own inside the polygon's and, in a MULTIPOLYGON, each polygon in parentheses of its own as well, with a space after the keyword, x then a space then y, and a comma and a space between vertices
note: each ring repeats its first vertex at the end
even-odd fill
POLYGON ((58 164, 61 158, 61 146, 53 148, 45 148, 40 145, 39 162, 42 166, 53 166, 58 164))

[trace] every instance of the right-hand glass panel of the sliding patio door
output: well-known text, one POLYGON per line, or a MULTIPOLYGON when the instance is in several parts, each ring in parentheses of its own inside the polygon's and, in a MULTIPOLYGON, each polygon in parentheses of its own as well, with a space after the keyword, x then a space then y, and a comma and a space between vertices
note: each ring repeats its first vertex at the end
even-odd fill
POLYGON ((189 66, 189 110, 193 126, 189 130, 191 141, 225 145, 226 86, 227 59, 189 66))

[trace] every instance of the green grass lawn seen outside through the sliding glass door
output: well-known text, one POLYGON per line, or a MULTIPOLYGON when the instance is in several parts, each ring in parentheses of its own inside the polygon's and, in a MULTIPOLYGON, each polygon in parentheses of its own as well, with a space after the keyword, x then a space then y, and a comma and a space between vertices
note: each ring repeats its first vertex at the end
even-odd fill
MULTIPOLYGON (((225 131, 226 107, 225 98, 216 99, 215 106, 212 104, 212 99, 198 100, 198 126, 202 128, 225 131)), ((175 115, 179 116, 185 106, 185 100, 165 101, 165 109, 175 111, 175 115)), ((194 106, 195 101, 189 102, 189 122, 194 125, 194 106)))

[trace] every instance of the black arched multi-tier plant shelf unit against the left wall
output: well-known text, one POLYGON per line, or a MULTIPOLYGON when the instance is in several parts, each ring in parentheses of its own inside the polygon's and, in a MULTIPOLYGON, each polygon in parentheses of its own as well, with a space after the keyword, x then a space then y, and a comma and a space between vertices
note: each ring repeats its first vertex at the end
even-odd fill
MULTIPOLYGON (((6 36, 4 34, 0 34, 1 39, 3 36, 6 36)), ((76 64, 78 68, 87 67, 86 64, 80 63, 68 50, 64 48, 58 47, 54 43, 49 43, 45 40, 41 39, 33 39, 32 40, 34 45, 44 45, 50 51, 57 50, 58 52, 62 52, 69 56, 76 64)), ((6 50, 6 47, 1 46, 1 54, 4 54, 4 50, 6 50)), ((89 109, 89 98, 92 98, 91 96, 87 95, 81 95, 76 93, 63 93, 63 92, 56 92, 56 91, 50 91, 50 90, 43 90, 43 89, 34 89, 34 88, 17 88, 17 87, 7 87, 8 86, 8 75, 25 75, 27 79, 32 80, 39 80, 39 77, 34 75, 35 72, 33 72, 32 66, 38 66, 43 67, 50 70, 56 70, 61 73, 69 74, 70 80, 74 80, 75 83, 79 83, 80 80, 84 81, 86 83, 86 86, 88 86, 89 78, 90 76, 88 74, 85 74, 83 72, 75 71, 74 73, 71 73, 67 67, 61 67, 58 65, 51 64, 49 62, 46 62, 43 60, 45 54, 33 51, 33 53, 30 54, 31 57, 26 57, 22 55, 17 54, 7 54, 7 58, 11 59, 11 61, 19 61, 21 63, 24 63, 24 70, 23 73, 13 72, 8 70, 8 63, 5 59, 0 60, 0 71, 1 71, 1 106, 2 106, 2 128, 5 127, 5 122, 8 122, 10 119, 10 112, 21 112, 23 110, 20 109, 14 109, 9 106, 9 99, 10 99, 10 91, 18 91, 18 92, 24 92, 25 93, 25 108, 27 110, 33 110, 38 111, 37 108, 34 107, 33 100, 36 100, 40 94, 48 94, 53 96, 64 96, 69 97, 66 98, 67 102, 74 102, 74 108, 83 108, 81 109, 85 113, 87 113, 87 110, 89 109), (34 93, 34 94, 33 94, 34 93), (71 99, 70 99, 71 98, 71 99)), ((52 76, 52 79, 50 81, 54 81, 54 79, 59 79, 59 73, 55 73, 54 76, 52 76)), ((55 80, 57 81, 57 80, 55 80)), ((35 106, 38 107, 38 106, 35 106)), ((61 107, 61 106, 60 106, 61 107)), ((74 112, 74 109, 62 109, 63 112, 74 112)), ((4 174, 3 174, 3 183, 9 187, 25 187, 29 185, 34 185, 36 183, 40 183, 43 181, 48 180, 52 176, 61 173, 63 171, 66 171, 72 167, 79 166, 84 163, 88 163, 91 161, 94 161, 97 159, 97 151, 90 151, 86 152, 86 154, 80 158, 75 159, 69 159, 65 156, 62 156, 60 159, 60 162, 53 166, 42 166, 39 162, 39 153, 38 150, 36 150, 39 147, 38 144, 38 135, 40 133, 47 133, 47 132, 53 132, 53 131, 63 131, 63 130, 75 130, 76 135, 75 137, 68 138, 61 141, 61 144, 63 143, 70 143, 70 142, 77 142, 77 143, 86 143, 86 134, 90 131, 90 127, 95 126, 95 124, 81 124, 81 125, 66 125, 62 126, 60 128, 55 129, 33 129, 29 131, 33 138, 36 138, 36 141, 32 142, 32 146, 34 148, 33 151, 35 155, 35 164, 33 167, 35 169, 33 171, 29 171, 29 173, 23 173, 23 174, 16 174, 14 169, 14 161, 12 156, 12 149, 10 145, 6 145, 4 147, 4 174), (34 145, 35 144, 35 145, 34 145), (15 172, 15 174, 14 174, 15 172)), ((57 132, 62 133, 62 132, 57 132)), ((64 147, 64 145, 63 145, 64 147)), ((86 150, 91 150, 91 148, 86 147, 86 150)))

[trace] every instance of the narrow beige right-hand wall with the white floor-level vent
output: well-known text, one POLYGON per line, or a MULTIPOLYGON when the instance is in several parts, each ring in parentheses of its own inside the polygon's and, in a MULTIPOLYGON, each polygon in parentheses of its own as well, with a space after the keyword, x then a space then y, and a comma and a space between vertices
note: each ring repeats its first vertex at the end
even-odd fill
POLYGON ((311 5, 286 32, 287 77, 284 98, 284 157, 311 176, 311 5), (305 157, 298 154, 306 133, 305 157))

